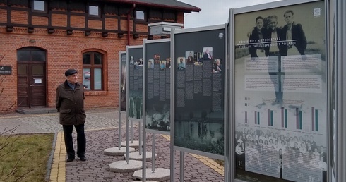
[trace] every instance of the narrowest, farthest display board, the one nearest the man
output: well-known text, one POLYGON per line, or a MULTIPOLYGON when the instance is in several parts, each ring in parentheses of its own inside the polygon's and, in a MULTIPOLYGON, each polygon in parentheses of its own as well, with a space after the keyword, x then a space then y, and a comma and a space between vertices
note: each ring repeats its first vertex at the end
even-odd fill
POLYGON ((126 51, 119 51, 120 110, 126 111, 126 51))

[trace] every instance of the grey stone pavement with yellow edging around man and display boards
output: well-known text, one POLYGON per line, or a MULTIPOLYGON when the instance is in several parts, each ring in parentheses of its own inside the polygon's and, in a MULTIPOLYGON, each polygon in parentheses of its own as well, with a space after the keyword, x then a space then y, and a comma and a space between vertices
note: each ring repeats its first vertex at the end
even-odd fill
MULTIPOLYGON (((14 133, 60 133, 57 147, 54 152, 54 159, 58 161, 59 167, 52 165, 52 171, 58 170, 62 178, 52 178, 51 181, 136 181, 133 173, 114 173, 109 171, 109 164, 119 160, 125 160, 124 157, 106 156, 103 151, 107 148, 118 147, 118 120, 119 111, 117 109, 93 109, 88 110, 85 123, 85 135, 87 138, 87 151, 85 156, 87 161, 82 162, 79 159, 71 163, 65 163, 66 152, 64 150, 64 140, 61 139, 62 127, 59 124, 59 114, 6 114, 0 115, 0 133, 3 131, 16 128, 14 133), (59 155, 59 156, 56 156, 59 155), (54 169, 57 168, 57 169, 54 169)), ((134 125, 134 139, 138 140, 138 126, 134 125)), ((126 140, 126 114, 121 114, 121 138, 126 140)), ((152 133, 147 133, 147 152, 152 152, 152 133)), ((76 132, 73 132, 73 143, 76 148, 76 132)), ((155 167, 170 168, 170 150, 169 136, 156 135, 155 167)), ((138 150, 136 150, 138 152, 138 150)), ((174 181, 179 180, 179 151, 175 152, 175 176, 174 181)), ((53 162, 54 163, 54 162, 53 162)), ((151 168, 151 162, 147 162, 146 168, 151 168)), ((212 159, 201 157, 196 154, 184 154, 184 181, 224 181, 223 167, 218 165, 212 159)))

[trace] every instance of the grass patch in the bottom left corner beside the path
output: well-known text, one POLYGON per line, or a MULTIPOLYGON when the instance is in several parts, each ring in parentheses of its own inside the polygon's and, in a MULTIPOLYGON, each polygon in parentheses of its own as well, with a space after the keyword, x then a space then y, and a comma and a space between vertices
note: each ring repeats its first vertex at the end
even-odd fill
POLYGON ((0 135, 0 181, 45 181, 54 133, 0 135))

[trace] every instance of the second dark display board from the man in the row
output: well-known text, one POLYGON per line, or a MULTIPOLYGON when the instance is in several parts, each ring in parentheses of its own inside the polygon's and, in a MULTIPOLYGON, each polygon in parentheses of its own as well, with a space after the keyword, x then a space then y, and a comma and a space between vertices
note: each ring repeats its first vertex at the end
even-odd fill
POLYGON ((129 119, 142 121, 143 116, 143 45, 127 46, 127 113, 129 119))

